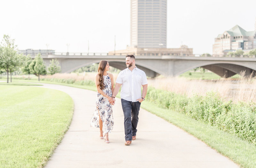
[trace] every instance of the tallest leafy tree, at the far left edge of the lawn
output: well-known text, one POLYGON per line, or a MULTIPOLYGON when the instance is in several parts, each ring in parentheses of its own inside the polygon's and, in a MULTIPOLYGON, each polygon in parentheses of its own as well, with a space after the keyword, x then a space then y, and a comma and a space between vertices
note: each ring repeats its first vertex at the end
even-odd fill
POLYGON ((0 65, 7 72, 7 83, 9 83, 9 72, 13 68, 20 65, 20 56, 18 54, 17 46, 14 45, 14 39, 10 36, 4 35, 1 42, 0 65))

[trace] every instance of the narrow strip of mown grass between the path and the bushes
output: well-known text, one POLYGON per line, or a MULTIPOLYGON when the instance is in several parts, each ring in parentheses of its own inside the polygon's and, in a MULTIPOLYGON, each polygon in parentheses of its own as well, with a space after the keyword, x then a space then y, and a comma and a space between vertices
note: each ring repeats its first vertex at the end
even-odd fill
MULTIPOLYGON (((20 81, 20 80, 19 80, 20 81)), ((27 80, 25 80, 27 81, 27 80)), ((35 81, 38 82, 38 81, 35 81)), ((40 82, 41 83, 41 82, 40 82)), ((42 83, 53 83, 42 81, 42 83)), ((86 85, 75 85, 75 84, 65 84, 65 83, 55 83, 66 86, 73 86, 77 88, 84 88, 96 91, 95 86, 86 85)), ((117 95, 120 97, 120 92, 117 95)), ((208 144, 213 149, 217 150, 224 156, 227 156, 235 163, 239 164, 244 168, 255 168, 256 165, 256 146, 242 140, 241 138, 231 135, 227 132, 219 130, 213 126, 204 124, 203 122, 196 121, 187 115, 159 108, 156 104, 144 101, 141 103, 141 108, 148 110, 149 112, 156 114, 157 116, 165 119, 166 121, 180 127, 181 129, 187 131, 189 134, 195 136, 196 138, 202 140, 204 143, 208 144)))

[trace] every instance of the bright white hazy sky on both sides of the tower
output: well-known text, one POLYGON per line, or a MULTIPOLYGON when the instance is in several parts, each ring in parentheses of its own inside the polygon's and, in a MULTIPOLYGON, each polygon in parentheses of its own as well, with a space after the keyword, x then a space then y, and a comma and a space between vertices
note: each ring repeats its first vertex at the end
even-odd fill
MULTIPOLYGON (((0 38, 20 50, 107 53, 130 45, 130 0, 1 0, 0 38)), ((214 38, 238 24, 254 30, 256 0, 167 0, 167 48, 212 53, 214 38)))

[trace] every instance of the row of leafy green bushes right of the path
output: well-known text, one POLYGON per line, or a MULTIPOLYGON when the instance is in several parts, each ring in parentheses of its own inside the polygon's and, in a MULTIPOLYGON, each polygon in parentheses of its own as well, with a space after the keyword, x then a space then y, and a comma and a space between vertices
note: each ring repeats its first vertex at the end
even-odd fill
POLYGON ((225 102, 214 92, 188 98, 153 87, 148 87, 147 100, 156 103, 158 107, 179 111, 256 145, 255 103, 225 102))

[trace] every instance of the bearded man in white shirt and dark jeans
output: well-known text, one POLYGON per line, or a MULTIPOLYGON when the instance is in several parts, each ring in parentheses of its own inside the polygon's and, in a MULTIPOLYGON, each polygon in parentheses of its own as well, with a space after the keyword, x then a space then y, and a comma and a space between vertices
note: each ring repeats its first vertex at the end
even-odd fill
POLYGON ((115 98, 119 88, 122 86, 121 103, 124 112, 124 144, 130 145, 132 140, 136 139, 140 103, 146 97, 148 81, 145 72, 135 66, 134 55, 126 55, 125 61, 127 68, 118 74, 112 98, 115 98))

